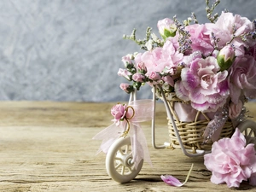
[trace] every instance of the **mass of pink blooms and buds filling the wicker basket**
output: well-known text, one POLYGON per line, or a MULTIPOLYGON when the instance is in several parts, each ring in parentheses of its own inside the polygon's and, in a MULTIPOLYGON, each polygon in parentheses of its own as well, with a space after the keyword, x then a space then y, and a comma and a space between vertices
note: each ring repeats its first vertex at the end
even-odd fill
POLYGON ((118 74, 133 84, 121 89, 130 93, 145 83, 160 85, 202 112, 215 112, 230 101, 236 108, 232 117, 241 112, 242 97, 256 98, 255 20, 223 12, 215 23, 181 28, 166 18, 157 26, 161 39, 150 39, 143 53, 123 57, 126 68, 118 74))

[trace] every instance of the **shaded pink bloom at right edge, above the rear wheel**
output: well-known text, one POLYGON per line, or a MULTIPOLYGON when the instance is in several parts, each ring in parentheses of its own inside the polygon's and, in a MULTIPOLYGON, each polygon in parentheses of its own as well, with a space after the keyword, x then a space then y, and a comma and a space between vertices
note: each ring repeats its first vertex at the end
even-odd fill
POLYGON ((251 55, 236 58, 230 72, 230 97, 238 103, 243 93, 250 99, 256 98, 256 61, 251 55))

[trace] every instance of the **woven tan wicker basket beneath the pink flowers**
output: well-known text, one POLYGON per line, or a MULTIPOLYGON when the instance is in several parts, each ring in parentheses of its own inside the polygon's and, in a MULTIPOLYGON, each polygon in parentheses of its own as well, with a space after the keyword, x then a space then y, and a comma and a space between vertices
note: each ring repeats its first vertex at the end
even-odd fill
MULTIPOLYGON (((169 93, 170 94, 170 93, 169 93)), ((203 149, 203 150, 210 150, 212 148, 212 142, 209 141, 203 144, 203 131, 205 131, 208 123, 212 119, 212 113, 201 113, 193 109, 189 102, 183 102, 182 100, 178 99, 175 94, 172 96, 166 96, 167 103, 169 108, 171 109, 172 116, 175 120, 175 124, 177 126, 177 131, 182 139, 184 148, 192 149, 192 152, 195 153, 196 149, 203 149), (168 99, 170 98, 170 99, 168 99), (180 115, 177 114, 175 109, 177 103, 180 105, 184 105, 185 107, 190 107, 191 110, 195 110, 193 120, 190 121, 184 120, 180 118, 180 115)), ((191 113, 191 110, 189 113, 191 113)), ((214 115, 214 114, 213 114, 214 115)), ((167 118, 168 119, 168 118, 167 118)), ((171 148, 181 148, 180 144, 178 143, 177 136, 175 134, 172 122, 168 119, 168 129, 169 135, 171 139, 171 148)), ((231 137, 234 132, 234 127, 230 119, 226 121, 224 127, 221 131, 220 137, 231 137)))

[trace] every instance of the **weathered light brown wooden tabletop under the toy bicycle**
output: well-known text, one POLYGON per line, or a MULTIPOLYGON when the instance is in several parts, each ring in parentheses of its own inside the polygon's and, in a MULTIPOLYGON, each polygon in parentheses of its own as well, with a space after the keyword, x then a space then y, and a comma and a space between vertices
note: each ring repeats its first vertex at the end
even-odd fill
MULTIPOLYGON (((136 179, 116 183, 105 169, 105 154, 96 154, 100 141, 91 138, 112 124, 114 103, 0 102, 0 191, 233 191, 210 182, 203 157, 189 158, 178 149, 151 147, 150 122, 143 123, 153 167, 144 163, 136 179), (189 182, 170 187, 160 175, 184 181, 194 163, 189 182)), ((256 103, 247 103, 256 116, 256 103)), ((254 118, 254 120, 256 120, 254 118)), ((166 113, 157 107, 158 144, 168 142, 166 113)), ((255 191, 242 183, 237 190, 255 191)))

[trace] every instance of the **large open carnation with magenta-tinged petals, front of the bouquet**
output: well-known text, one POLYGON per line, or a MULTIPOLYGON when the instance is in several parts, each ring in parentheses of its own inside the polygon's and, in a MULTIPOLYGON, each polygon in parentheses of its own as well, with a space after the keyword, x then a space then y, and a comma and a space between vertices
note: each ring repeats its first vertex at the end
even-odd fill
POLYGON ((190 101, 201 112, 215 112, 229 96, 228 72, 219 72, 216 58, 196 58, 189 67, 184 67, 181 80, 174 84, 177 97, 190 101))

